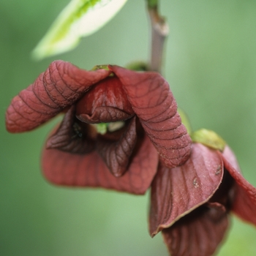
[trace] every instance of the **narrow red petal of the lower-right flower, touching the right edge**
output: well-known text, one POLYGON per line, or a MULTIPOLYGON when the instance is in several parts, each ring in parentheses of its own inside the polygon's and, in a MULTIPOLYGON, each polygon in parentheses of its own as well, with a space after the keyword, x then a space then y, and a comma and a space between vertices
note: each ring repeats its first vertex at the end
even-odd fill
POLYGON ((235 154, 228 146, 223 151, 222 159, 225 168, 236 181, 232 211, 246 222, 256 225, 256 188, 241 175, 235 154))

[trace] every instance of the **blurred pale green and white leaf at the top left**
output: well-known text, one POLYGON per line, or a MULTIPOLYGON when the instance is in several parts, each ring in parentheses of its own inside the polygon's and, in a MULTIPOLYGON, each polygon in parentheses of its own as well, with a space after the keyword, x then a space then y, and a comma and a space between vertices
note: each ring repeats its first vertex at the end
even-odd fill
POLYGON ((53 22, 32 52, 34 59, 75 48, 81 37, 93 34, 124 6, 127 0, 72 0, 53 22))

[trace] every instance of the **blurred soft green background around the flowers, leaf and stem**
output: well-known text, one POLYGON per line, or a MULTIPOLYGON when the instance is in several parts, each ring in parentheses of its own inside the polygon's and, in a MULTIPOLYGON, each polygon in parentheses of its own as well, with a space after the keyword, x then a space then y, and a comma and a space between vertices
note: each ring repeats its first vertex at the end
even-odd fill
MULTIPOLYGON (((148 195, 65 189, 40 173, 40 151, 56 121, 11 135, 4 112, 54 59, 86 69, 148 59, 144 0, 129 0, 107 26, 72 52, 34 62, 31 50, 68 0, 0 2, 0 255, 167 255, 148 236, 148 195)), ((170 25, 164 75, 192 127, 214 129, 256 185, 256 1, 162 0, 170 25)), ((256 229, 231 218, 217 255, 255 255, 256 229)))

